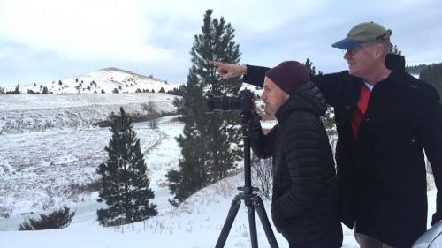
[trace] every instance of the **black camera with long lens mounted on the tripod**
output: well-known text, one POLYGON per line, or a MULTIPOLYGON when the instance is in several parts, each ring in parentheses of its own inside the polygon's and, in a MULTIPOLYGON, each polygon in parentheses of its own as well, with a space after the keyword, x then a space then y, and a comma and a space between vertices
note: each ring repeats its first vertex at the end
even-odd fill
POLYGON ((226 96, 225 94, 205 94, 208 111, 226 112, 226 111, 240 111, 242 113, 249 113, 252 110, 253 94, 249 90, 241 90, 239 96, 226 96))

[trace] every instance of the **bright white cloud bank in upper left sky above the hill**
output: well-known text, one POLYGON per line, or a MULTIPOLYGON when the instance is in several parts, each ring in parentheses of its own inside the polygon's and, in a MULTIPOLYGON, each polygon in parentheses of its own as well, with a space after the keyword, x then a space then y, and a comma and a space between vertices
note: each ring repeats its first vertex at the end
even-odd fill
MULTIPOLYGON (((161 28, 161 26, 155 26, 161 28)), ((162 60, 171 50, 149 44, 154 26, 137 1, 6 1, 0 4, 4 41, 81 59, 162 60)))

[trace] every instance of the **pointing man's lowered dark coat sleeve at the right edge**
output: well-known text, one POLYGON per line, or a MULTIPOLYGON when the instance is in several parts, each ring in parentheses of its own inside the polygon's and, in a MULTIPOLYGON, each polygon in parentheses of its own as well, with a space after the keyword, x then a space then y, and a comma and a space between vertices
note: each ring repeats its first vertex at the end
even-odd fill
POLYGON ((437 91, 427 84, 423 85, 422 134, 423 148, 431 163, 434 182, 438 189, 436 213, 432 216, 431 225, 442 220, 442 106, 437 91))

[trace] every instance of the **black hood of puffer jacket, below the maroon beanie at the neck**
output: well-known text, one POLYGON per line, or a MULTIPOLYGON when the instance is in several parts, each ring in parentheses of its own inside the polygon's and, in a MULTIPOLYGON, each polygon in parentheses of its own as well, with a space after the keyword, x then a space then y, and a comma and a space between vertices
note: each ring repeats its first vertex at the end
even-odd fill
POLYGON ((278 121, 294 110, 311 112, 317 116, 324 116, 327 110, 327 102, 319 88, 311 81, 296 87, 290 98, 275 114, 278 121))

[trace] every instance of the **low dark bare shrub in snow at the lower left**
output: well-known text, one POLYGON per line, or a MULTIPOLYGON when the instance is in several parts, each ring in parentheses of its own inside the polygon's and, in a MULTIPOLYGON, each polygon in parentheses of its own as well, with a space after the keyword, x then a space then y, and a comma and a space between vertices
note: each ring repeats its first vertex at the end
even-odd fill
POLYGON ((50 214, 40 214, 40 219, 28 218, 19 226, 19 230, 63 229, 71 224, 74 214, 65 206, 50 214))

